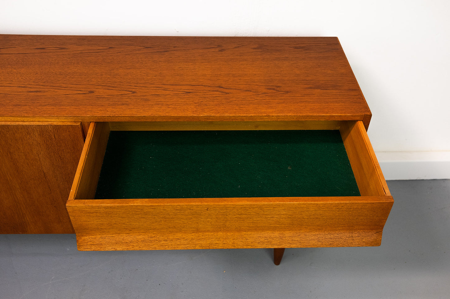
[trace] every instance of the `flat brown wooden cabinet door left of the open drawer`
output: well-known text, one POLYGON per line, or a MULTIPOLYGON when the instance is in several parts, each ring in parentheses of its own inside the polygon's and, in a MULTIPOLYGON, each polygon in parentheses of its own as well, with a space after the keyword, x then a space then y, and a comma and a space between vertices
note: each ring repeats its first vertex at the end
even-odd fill
POLYGON ((74 233, 65 207, 81 123, 0 123, 0 233, 74 233))

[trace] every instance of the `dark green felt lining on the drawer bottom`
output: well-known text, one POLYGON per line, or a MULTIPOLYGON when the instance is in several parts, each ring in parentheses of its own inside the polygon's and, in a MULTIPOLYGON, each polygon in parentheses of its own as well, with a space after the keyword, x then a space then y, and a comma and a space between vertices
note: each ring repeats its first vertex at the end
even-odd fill
POLYGON ((339 131, 112 131, 95 198, 359 195, 339 131))

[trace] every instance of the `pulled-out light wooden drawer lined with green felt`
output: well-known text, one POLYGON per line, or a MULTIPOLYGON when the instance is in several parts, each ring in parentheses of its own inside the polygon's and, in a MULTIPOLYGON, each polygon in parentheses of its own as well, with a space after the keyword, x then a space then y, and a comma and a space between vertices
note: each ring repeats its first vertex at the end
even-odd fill
MULTIPOLYGON (((284 136, 283 134, 276 135, 284 136)), ((148 138, 156 138, 155 136, 161 136, 161 134, 153 134, 148 138)), ((175 135, 170 136, 168 139, 172 140, 172 144, 174 142, 176 143, 172 138, 175 135)), ((178 136, 183 136, 183 134, 179 134, 178 136)), ((223 138, 229 141, 233 140, 234 136, 237 135, 231 134, 228 135, 228 139, 223 138)), ((129 143, 128 139, 120 143, 121 137, 115 138, 116 142, 114 144, 116 146, 119 144, 119 146, 126 147, 129 143), (117 138, 119 138, 119 142, 117 142, 117 138)), ((211 135, 204 135, 204 138, 211 138, 211 135)), ((248 140, 252 138, 244 134, 241 139, 248 140)), ((239 144, 239 142, 234 143, 239 144)), ((264 143, 264 141, 261 141, 262 148, 265 148, 264 143)), ((324 145, 324 147, 327 146, 324 145)), ((182 148, 177 150, 183 150, 182 148)), ((195 145, 191 146, 191 149, 195 148, 195 145)), ((239 147, 236 149, 242 151, 239 147)), ((303 149, 297 150, 300 152, 304 151, 303 149)), ((164 152, 163 149, 159 149, 159 151, 164 152)), ((212 151, 215 152, 216 149, 212 149, 212 151)), ((122 157, 134 157, 133 154, 127 153, 127 149, 122 150, 122 154, 122 157)), ((197 157, 201 157, 203 154, 197 153, 197 157)), ((299 153, 293 152, 294 157, 297 154, 299 153)), ((216 153, 216 157, 219 156, 223 156, 223 154, 219 153, 217 155, 216 153)), ((278 156, 277 154, 275 156, 273 155, 275 158, 278 156)), ((292 156, 289 157, 292 158, 292 156)), ((194 161, 193 165, 198 164, 195 161, 198 161, 199 158, 192 159, 194 161)), ((248 157, 244 157, 243 159, 249 160, 248 157)), ((114 163, 114 158, 110 157, 109 160, 112 160, 112 163, 114 163)), ((200 160, 202 159, 200 158, 200 160)), ((222 160, 225 161, 227 158, 223 158, 222 160)), ((267 160, 272 161, 274 159, 268 158, 267 160)), ((306 160, 311 159, 307 158, 306 160)), ((165 162, 172 163, 171 161, 165 162)), ((287 171, 286 173, 294 168, 288 162, 285 163, 285 166, 284 171, 287 171)), ((167 176, 167 173, 161 172, 161 169, 165 166, 160 168, 156 166, 152 167, 154 167, 152 169, 159 170, 146 171, 145 176, 149 177, 144 178, 144 180, 153 183, 158 177, 167 176)), ((229 167, 226 165, 224 167, 221 169, 228 171, 229 167)), ((181 168, 185 171, 184 166, 180 167, 180 171, 181 168)), ((336 168, 338 167, 334 166, 335 171, 336 168)), ((246 172, 246 168, 243 169, 241 172, 246 172)), ((262 169, 266 169, 266 166, 263 166, 262 169)), ((217 172, 221 172, 222 170, 217 172)), ((234 176, 232 174, 233 172, 230 174, 227 171, 225 171, 225 176, 234 176)), ((257 172, 259 171, 261 169, 257 170, 257 172)), ((268 171, 269 177, 271 171, 268 171)), ((190 172, 188 171, 186 173, 189 174, 190 172)), ((140 175, 138 174, 138 176, 140 175)), ((221 183, 226 180, 217 179, 216 177, 211 179, 210 176, 209 173, 203 175, 205 181, 208 179, 207 185, 209 189, 211 189, 211 181, 214 182, 216 180, 221 183)), ((283 177, 284 174, 280 176, 283 177)), ((245 176, 243 176, 242 180, 246 180, 245 176)), ((245 181, 242 182, 245 185, 245 181)), ((234 181, 234 183, 236 182, 234 181)), ((258 185, 258 183, 255 184, 258 185)), ((264 181, 262 184, 264 184, 264 181)), ((272 185, 270 179, 269 184, 266 185, 272 185)), ((146 189, 142 185, 138 188, 146 189)), ((151 188, 158 189, 158 187, 154 186, 151 188)), ((151 188, 149 187, 149 189, 151 188)), ((224 188, 220 187, 217 189, 222 190, 224 188)), ((238 188, 240 188, 240 185, 238 188)), ((259 189, 255 188, 254 190, 259 189)), ((381 243, 383 227, 392 204, 392 196, 389 193, 386 181, 383 178, 365 127, 361 121, 104 122, 90 123, 75 180, 67 201, 67 210, 76 232, 79 250, 281 248, 378 246, 381 243), (302 171, 303 177, 308 178, 309 185, 296 182, 296 178, 294 177, 293 181, 289 183, 292 185, 287 185, 287 187, 286 185, 282 185, 279 187, 274 182, 273 189, 275 191, 265 186, 262 189, 266 191, 262 193, 250 189, 243 193, 239 193, 240 191, 217 193, 214 190, 206 193, 195 193, 195 191, 189 191, 187 187, 199 184, 198 186, 200 187, 194 187, 197 188, 195 190, 202 189, 202 181, 200 180, 199 182, 198 177, 192 179, 191 177, 186 177, 186 175, 184 175, 186 182, 184 182, 184 185, 182 184, 183 188, 178 188, 180 184, 174 183, 174 180, 179 180, 179 177, 175 176, 173 180, 162 180, 162 183, 159 183, 162 187, 169 186, 162 193, 146 193, 148 190, 144 190, 144 193, 137 193, 141 195, 135 196, 134 198, 128 198, 126 194, 130 193, 126 191, 120 197, 114 195, 117 193, 108 193, 111 189, 119 189, 118 193, 121 192, 121 184, 114 183, 114 180, 112 180, 111 188, 108 185, 106 187, 105 185, 98 187, 99 177, 100 181, 102 177, 106 177, 103 181, 108 181, 108 178, 119 178, 118 180, 121 180, 120 177, 127 177, 130 174, 136 175, 134 172, 138 171, 137 169, 141 166, 139 161, 133 161, 136 165, 135 170, 123 171, 118 169, 116 173, 114 167, 107 168, 109 170, 102 169, 105 152, 108 155, 107 145, 111 131, 178 132, 185 130, 204 132, 204 130, 216 130, 217 132, 231 132, 235 130, 236 132, 245 132, 247 130, 260 130, 262 132, 280 129, 289 130, 293 134, 302 130, 309 132, 312 130, 334 130, 333 132, 338 134, 338 136, 342 136, 339 140, 343 143, 343 152, 346 153, 344 154, 346 155, 344 162, 336 164, 326 160, 332 159, 329 157, 333 157, 334 149, 331 151, 328 150, 328 154, 331 153, 329 157, 324 156, 321 149, 307 149, 306 151, 309 152, 317 152, 321 160, 321 163, 316 166, 314 166, 314 161, 308 161, 313 166, 305 168, 306 170, 302 171), (345 161, 347 161, 347 166, 345 165, 345 161), (331 164, 342 165, 342 167, 348 167, 350 169, 351 178, 348 180, 348 184, 351 185, 351 182, 354 182, 356 186, 355 191, 351 190, 351 186, 347 186, 347 183, 345 183, 346 180, 340 180, 342 179, 342 173, 339 169, 331 177, 324 176, 315 180, 309 179, 308 176, 310 175, 311 169, 319 169, 319 173, 329 172, 328 169, 320 169, 321 167, 329 167, 331 164), (109 172, 103 174, 103 171, 109 172), (331 189, 346 189, 342 191, 343 193, 333 190, 327 191, 330 187, 329 185, 335 184, 331 182, 335 178, 338 179, 338 185, 331 186, 331 189), (321 185, 318 185, 318 181, 320 181, 321 185), (165 186, 163 186, 164 182, 167 182, 165 186), (186 185, 188 186, 186 187, 186 185), (304 188, 295 190, 294 187, 290 187, 294 185, 304 185, 304 188), (103 191, 100 192, 99 189, 103 191), (291 192, 291 189, 293 192, 291 192), (183 196, 184 191, 178 192, 177 190, 188 191, 185 193, 186 196, 183 196), (280 193, 277 193, 277 190, 281 190, 280 193), (321 193, 322 190, 323 193, 321 193), (142 198, 145 197, 145 194, 151 194, 149 197, 152 198, 142 198), (199 194, 199 196, 193 198, 193 194, 199 194), (217 196, 215 194, 219 195, 217 196), (245 194, 248 194, 248 196, 245 194)))

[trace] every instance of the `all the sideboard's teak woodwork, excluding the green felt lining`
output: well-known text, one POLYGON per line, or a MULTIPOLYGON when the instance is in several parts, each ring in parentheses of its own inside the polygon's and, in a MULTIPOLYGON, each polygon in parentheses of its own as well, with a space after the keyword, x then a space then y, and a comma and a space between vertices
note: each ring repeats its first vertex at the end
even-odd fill
POLYGON ((285 247, 380 245, 393 204, 335 37, 0 35, 0 106, 0 233, 271 247, 279 264, 285 247), (110 131, 145 130, 339 130, 360 196, 94 199, 110 131))

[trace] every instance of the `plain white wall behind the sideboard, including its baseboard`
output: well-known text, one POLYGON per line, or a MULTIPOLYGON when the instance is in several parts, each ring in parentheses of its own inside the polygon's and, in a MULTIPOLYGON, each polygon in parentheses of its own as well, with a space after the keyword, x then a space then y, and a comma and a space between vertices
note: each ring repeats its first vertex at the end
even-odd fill
POLYGON ((386 178, 450 178, 448 3, 0 0, 0 33, 338 36, 386 178))

